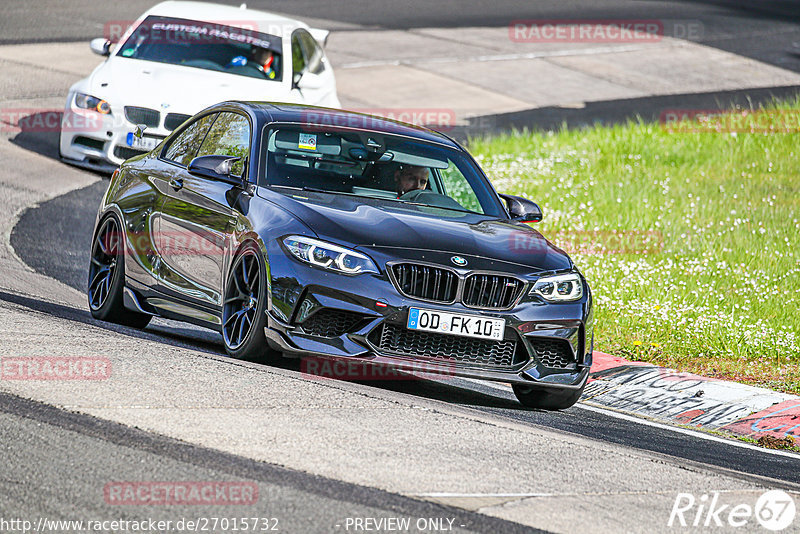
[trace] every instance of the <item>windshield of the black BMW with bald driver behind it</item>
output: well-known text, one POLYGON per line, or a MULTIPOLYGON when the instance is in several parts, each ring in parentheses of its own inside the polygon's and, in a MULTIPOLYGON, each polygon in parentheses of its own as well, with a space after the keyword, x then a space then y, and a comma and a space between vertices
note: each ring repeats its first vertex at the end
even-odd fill
POLYGON ((500 216, 488 182, 462 152, 388 134, 285 126, 265 131, 259 184, 500 216))

